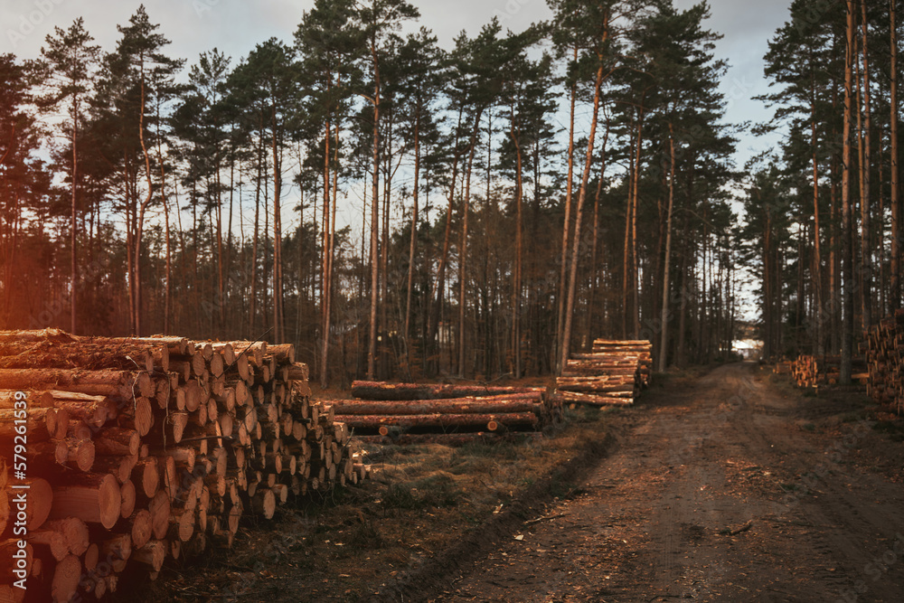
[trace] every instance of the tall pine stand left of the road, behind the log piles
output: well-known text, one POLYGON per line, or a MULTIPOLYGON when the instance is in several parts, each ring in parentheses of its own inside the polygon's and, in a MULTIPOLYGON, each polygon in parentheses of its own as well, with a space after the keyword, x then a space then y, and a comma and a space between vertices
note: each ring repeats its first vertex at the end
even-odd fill
POLYGON ((316 0, 237 60, 170 56, 144 6, 115 48, 77 19, 0 55, 0 327, 294 343, 323 385, 545 374, 598 336, 726 356, 708 5, 548 4, 450 49, 404 0, 316 0))

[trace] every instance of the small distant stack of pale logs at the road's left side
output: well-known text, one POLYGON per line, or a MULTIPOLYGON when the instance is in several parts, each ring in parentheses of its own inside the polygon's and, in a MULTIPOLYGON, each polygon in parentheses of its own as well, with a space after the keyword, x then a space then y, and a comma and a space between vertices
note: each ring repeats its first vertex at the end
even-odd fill
POLYGON ((649 385, 653 368, 648 341, 597 339, 592 353, 572 353, 556 379, 563 401, 593 406, 629 406, 649 385))

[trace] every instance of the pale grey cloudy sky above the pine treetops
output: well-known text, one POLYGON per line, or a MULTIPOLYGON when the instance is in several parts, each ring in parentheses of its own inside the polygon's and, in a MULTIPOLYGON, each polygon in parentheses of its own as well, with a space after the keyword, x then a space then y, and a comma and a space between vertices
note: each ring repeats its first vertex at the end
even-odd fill
MULTIPOLYGON (((769 112, 752 97, 768 90, 763 79, 763 55, 767 42, 787 19, 790 0, 711 0, 707 26, 724 34, 717 55, 726 58, 730 71, 722 81, 732 123, 763 121, 769 112)), ((110 51, 118 39, 117 24, 126 24, 139 5, 136 1, 98 0, 4 0, 0 4, 0 52, 13 52, 23 59, 40 55, 41 45, 53 28, 68 27, 79 16, 101 47, 110 51)), ((219 48, 238 60, 258 42, 270 37, 291 41, 301 14, 313 0, 145 0, 152 23, 170 39, 170 56, 197 60, 201 52, 219 48)), ((535 21, 548 19, 551 11, 544 0, 413 0, 424 25, 438 36, 439 43, 451 47, 462 30, 476 33, 497 16, 505 28, 520 31, 535 21)), ((678 8, 696 4, 694 0, 674 0, 678 8)), ((736 164, 774 146, 775 139, 743 137, 736 164)))

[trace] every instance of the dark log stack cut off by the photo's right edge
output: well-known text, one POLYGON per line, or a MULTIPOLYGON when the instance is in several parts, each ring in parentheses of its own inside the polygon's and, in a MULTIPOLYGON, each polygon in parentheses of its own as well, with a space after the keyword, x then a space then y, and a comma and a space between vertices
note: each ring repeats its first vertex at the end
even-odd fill
POLYGON ((904 410, 904 310, 872 325, 865 347, 870 372, 867 392, 895 412, 904 410))

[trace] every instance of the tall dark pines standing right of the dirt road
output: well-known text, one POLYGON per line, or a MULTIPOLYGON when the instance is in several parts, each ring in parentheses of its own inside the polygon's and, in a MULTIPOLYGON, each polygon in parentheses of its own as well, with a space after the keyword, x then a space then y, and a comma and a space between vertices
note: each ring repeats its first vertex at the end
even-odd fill
POLYGON ((782 144, 749 165, 745 256, 761 277, 767 355, 840 354, 901 304, 895 0, 796 0, 769 42, 760 130, 782 144))

